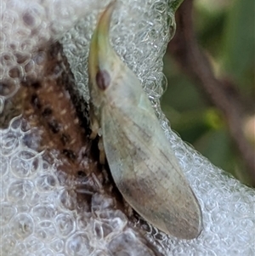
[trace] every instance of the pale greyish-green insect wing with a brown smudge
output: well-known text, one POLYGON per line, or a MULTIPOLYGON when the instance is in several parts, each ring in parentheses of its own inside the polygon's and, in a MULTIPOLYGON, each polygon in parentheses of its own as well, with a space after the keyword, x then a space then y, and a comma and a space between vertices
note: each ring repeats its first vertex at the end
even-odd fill
POLYGON ((105 105, 102 135, 111 174, 126 201, 167 234, 198 236, 200 206, 153 109, 105 105))

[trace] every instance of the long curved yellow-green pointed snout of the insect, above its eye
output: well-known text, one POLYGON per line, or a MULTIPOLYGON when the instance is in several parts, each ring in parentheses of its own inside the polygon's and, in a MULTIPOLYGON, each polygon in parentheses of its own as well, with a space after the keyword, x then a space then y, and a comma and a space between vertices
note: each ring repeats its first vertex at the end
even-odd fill
POLYGON ((112 1, 101 14, 98 25, 91 39, 88 56, 88 76, 94 81, 98 71, 109 71, 111 73, 112 63, 116 55, 111 48, 109 30, 111 15, 115 9, 116 1, 112 1))

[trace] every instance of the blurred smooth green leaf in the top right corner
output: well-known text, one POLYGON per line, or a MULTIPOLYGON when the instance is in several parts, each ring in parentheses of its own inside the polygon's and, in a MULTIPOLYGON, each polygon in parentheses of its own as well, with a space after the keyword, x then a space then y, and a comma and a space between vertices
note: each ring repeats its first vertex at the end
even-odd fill
POLYGON ((223 68, 239 83, 251 90, 254 82, 255 2, 234 0, 224 30, 223 68))

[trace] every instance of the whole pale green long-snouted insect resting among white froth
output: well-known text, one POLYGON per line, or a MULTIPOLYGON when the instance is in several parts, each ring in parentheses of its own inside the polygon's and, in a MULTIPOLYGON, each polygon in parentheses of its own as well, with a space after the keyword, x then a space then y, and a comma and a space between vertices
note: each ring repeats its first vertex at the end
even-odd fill
POLYGON ((139 79, 111 47, 114 9, 112 2, 100 15, 89 50, 91 137, 102 135, 112 177, 132 208, 168 235, 193 239, 202 229, 200 205, 139 79))

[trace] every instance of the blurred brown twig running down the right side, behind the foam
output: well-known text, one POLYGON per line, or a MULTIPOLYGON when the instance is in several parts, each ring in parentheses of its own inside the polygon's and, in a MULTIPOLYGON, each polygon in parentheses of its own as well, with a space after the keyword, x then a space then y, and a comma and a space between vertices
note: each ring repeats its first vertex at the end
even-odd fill
POLYGON ((224 113, 229 125, 229 132, 237 145, 246 168, 255 185, 255 157, 252 146, 246 141, 242 129, 245 118, 240 95, 231 82, 217 79, 207 56, 200 49, 192 22, 193 0, 185 0, 176 14, 177 31, 167 52, 171 53, 182 70, 206 92, 212 104, 224 113))

